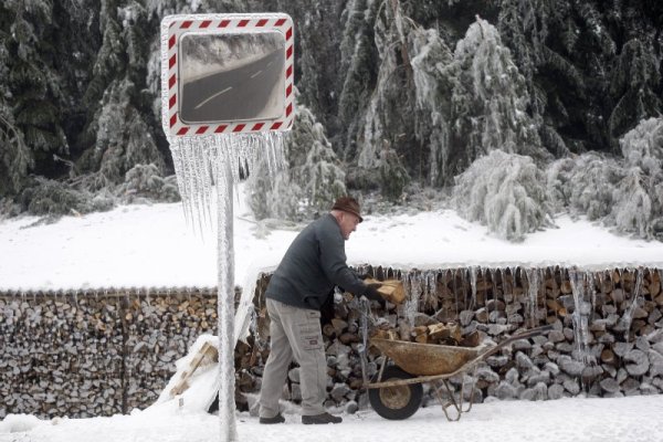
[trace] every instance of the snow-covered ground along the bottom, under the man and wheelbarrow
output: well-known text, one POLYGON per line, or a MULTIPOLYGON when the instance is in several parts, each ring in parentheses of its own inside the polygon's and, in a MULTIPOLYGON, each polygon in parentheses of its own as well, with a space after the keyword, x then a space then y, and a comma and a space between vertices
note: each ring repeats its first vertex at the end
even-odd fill
MULTIPOLYGON (((295 413, 286 414, 285 423, 261 425, 257 418, 240 413, 236 428, 239 440, 246 442, 660 442, 661 410, 663 396, 576 398, 475 404, 457 422, 448 422, 440 407, 420 409, 403 421, 360 411, 336 425, 303 425, 295 413)), ((212 442, 220 440, 219 427, 217 415, 179 413, 167 403, 112 418, 39 421, 12 415, 0 422, 0 441, 212 442)))

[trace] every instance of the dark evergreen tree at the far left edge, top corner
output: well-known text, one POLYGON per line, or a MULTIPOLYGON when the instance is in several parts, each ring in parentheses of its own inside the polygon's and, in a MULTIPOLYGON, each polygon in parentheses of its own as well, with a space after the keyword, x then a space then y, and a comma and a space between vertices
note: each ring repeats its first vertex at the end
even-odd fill
POLYGON ((67 104, 48 1, 0 6, 0 196, 15 194, 28 171, 52 175, 53 155, 69 151, 61 108, 67 104))

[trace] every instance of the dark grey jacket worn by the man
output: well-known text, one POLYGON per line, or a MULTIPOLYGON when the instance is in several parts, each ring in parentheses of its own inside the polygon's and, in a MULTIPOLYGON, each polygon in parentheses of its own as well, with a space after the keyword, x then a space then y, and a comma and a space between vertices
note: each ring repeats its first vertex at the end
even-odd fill
POLYGON ((346 264, 345 240, 332 213, 308 224, 285 252, 265 296, 295 307, 319 309, 341 286, 361 296, 366 285, 346 264))

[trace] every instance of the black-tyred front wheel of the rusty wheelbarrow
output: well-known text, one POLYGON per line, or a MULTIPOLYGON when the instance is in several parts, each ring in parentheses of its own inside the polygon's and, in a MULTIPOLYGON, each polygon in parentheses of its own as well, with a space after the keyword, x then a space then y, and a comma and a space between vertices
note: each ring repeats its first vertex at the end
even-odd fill
MULTIPOLYGON (((398 367, 389 366, 385 367, 380 382, 411 378, 414 378, 414 376, 398 367)), ((371 382, 378 382, 378 375, 373 376, 371 382)), ((419 410, 422 398, 423 387, 421 387, 421 383, 370 388, 368 390, 370 406, 378 414, 389 420, 408 419, 419 410)))

